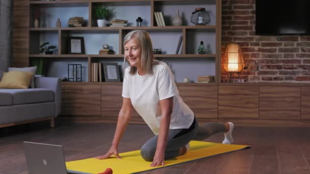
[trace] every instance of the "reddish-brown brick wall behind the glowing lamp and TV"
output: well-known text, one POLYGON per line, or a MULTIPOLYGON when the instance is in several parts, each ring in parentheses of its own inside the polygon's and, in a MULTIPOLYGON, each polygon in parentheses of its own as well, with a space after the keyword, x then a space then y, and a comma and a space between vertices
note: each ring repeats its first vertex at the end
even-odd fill
POLYGON ((222 0, 222 51, 229 41, 241 45, 248 67, 234 81, 310 82, 310 36, 256 36, 255 0, 222 0))

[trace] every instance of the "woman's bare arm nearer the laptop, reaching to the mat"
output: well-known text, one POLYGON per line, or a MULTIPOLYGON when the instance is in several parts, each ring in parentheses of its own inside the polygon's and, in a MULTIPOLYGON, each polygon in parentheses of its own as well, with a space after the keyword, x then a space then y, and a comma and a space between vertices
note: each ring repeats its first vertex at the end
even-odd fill
POLYGON ((118 155, 118 150, 117 150, 118 143, 126 130, 128 122, 130 121, 132 117, 132 111, 133 111, 133 105, 132 105, 130 98, 123 98, 123 104, 118 114, 117 125, 116 125, 114 138, 112 141, 112 146, 105 155, 98 156, 96 157, 97 159, 107 159, 111 155, 115 155, 117 158, 121 158, 118 155))

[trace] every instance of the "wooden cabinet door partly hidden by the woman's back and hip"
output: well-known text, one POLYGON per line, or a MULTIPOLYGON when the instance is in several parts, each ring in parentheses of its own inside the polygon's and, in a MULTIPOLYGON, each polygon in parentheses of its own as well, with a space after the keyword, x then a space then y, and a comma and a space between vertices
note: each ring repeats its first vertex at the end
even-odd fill
POLYGON ((197 118, 217 118, 217 86, 178 86, 183 101, 197 118))

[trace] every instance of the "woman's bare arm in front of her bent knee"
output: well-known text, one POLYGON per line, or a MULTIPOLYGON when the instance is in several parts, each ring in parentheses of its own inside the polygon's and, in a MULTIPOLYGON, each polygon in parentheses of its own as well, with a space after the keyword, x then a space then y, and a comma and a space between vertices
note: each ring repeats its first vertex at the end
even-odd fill
POLYGON ((173 108, 173 97, 161 100, 160 104, 162 110, 162 118, 159 128, 156 152, 153 162, 150 165, 151 167, 165 165, 165 150, 167 146, 167 137, 169 133, 170 119, 173 108))

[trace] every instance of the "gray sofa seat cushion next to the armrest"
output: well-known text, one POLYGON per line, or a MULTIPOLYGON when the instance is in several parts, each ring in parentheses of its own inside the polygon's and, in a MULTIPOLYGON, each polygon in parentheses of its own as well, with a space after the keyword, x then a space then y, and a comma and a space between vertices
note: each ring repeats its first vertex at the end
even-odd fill
POLYGON ((0 92, 6 92, 12 95, 13 105, 54 101, 54 92, 48 89, 2 89, 0 92))

